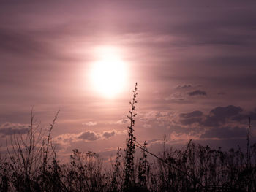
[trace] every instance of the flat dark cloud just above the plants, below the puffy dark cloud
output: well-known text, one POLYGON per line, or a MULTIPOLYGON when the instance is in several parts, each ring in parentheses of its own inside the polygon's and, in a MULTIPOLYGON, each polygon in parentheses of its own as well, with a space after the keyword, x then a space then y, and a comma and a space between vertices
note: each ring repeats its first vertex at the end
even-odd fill
POLYGON ((219 139, 231 139, 231 138, 243 138, 246 137, 246 128, 239 127, 222 127, 211 128, 207 130, 200 138, 219 138, 219 139))

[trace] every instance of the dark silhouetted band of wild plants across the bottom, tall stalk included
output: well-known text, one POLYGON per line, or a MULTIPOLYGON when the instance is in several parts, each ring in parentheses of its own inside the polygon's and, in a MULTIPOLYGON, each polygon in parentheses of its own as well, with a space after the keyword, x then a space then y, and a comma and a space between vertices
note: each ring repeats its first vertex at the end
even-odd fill
POLYGON ((72 150, 68 164, 61 164, 51 133, 59 111, 43 134, 31 111, 26 135, 7 141, 7 155, 0 156, 0 191, 256 191, 256 144, 244 153, 211 149, 189 141, 184 150, 167 148, 157 155, 140 145, 134 136, 138 85, 129 110, 128 138, 122 152, 118 147, 110 171, 102 166, 99 153, 72 150), (135 149, 140 158, 135 160, 135 149), (148 155, 156 161, 149 162, 148 155))

